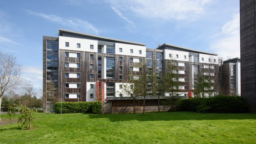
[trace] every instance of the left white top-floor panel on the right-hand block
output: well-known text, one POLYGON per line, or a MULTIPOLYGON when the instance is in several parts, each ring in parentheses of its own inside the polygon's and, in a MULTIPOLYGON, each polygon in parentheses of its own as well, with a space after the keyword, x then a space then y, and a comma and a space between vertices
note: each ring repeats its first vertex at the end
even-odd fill
POLYGON ((164 59, 181 60, 181 61, 188 62, 188 52, 165 49, 164 50, 164 59), (169 54, 171 54, 171 57, 169 57, 169 54), (176 58, 176 55, 178 55, 178 58, 176 58), (186 55, 186 59, 185 59, 184 55, 186 55))

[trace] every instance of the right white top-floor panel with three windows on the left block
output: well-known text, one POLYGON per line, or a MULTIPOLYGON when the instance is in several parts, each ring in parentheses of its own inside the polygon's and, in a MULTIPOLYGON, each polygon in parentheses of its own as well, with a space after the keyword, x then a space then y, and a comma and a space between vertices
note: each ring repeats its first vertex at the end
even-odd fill
POLYGON ((134 44, 115 43, 115 53, 120 55, 146 57, 146 47, 134 44), (119 52, 119 48, 122 48, 122 52, 119 52), (130 53, 130 49, 133 49, 133 53, 130 53), (139 50, 142 51, 142 54, 139 54, 139 50))

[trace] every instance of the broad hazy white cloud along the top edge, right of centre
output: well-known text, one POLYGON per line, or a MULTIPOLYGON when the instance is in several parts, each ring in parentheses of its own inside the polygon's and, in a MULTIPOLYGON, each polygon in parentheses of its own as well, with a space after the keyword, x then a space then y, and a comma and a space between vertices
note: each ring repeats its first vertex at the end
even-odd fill
POLYGON ((138 17, 162 18, 163 20, 196 20, 206 12, 212 0, 106 0, 126 15, 133 12, 138 17))

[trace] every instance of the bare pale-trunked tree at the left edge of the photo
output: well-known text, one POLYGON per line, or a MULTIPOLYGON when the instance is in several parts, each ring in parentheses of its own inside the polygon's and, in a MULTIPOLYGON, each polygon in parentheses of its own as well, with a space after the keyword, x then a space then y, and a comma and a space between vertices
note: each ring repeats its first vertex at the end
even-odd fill
POLYGON ((20 84, 21 68, 21 65, 16 62, 16 57, 0 52, 0 111, 4 93, 15 89, 20 84))

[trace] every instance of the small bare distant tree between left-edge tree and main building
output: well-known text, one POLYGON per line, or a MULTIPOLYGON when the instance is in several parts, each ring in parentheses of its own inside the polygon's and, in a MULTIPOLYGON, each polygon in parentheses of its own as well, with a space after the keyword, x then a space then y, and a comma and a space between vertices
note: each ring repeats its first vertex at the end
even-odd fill
POLYGON ((22 89, 22 94, 28 96, 28 107, 31 108, 32 97, 36 96, 34 86, 31 84, 31 81, 27 81, 23 83, 22 89))

